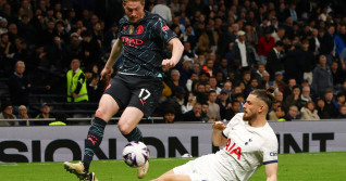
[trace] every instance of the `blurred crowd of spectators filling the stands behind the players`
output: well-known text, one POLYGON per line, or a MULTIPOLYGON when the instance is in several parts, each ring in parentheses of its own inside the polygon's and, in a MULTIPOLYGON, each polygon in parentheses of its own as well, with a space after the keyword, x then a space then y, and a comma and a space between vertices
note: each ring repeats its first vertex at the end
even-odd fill
MULTIPOLYGON (((146 10, 160 14, 184 44, 152 116, 164 122, 228 120, 244 112, 254 89, 274 87, 269 120, 346 118, 343 7, 337 0, 147 0, 146 10)), ((75 59, 87 102, 98 102, 121 0, 0 0, 0 76, 10 90, 0 119, 30 107, 33 90, 67 94, 75 59)))

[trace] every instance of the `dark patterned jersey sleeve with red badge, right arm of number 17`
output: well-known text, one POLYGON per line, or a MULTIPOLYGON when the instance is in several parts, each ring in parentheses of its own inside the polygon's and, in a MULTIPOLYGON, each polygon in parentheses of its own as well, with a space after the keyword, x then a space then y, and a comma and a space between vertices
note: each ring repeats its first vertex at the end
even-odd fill
POLYGON ((171 39, 176 37, 176 34, 166 25, 162 17, 157 17, 156 23, 153 24, 153 30, 158 37, 165 43, 168 43, 171 39))

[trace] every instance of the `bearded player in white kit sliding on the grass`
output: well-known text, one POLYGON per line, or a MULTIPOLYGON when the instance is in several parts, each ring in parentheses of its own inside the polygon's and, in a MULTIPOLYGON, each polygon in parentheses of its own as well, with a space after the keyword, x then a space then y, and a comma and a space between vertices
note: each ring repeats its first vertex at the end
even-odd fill
POLYGON ((265 166, 267 181, 277 179, 277 139, 265 115, 271 107, 273 89, 254 90, 244 104, 244 113, 236 114, 225 126, 212 125, 212 142, 225 145, 209 154, 173 168, 153 181, 233 181, 249 180, 265 166))

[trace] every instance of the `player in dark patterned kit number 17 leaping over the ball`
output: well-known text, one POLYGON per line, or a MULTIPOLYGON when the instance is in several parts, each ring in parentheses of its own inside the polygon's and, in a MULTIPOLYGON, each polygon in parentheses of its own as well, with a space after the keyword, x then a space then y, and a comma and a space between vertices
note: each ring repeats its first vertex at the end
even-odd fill
MULTIPOLYGON (((97 180, 95 173, 89 172, 89 166, 102 141, 107 122, 120 109, 124 109, 118 122, 121 133, 128 142, 143 141, 136 126, 144 116, 149 117, 158 104, 162 93, 162 69, 174 67, 183 54, 182 42, 164 20, 145 11, 144 7, 145 0, 123 1, 125 16, 120 20, 120 36, 101 72, 101 79, 110 76, 112 66, 121 55, 123 63, 99 102, 88 131, 83 161, 64 163, 64 168, 81 180, 97 180), (166 44, 173 47, 171 59, 164 59, 166 44)), ((138 167, 139 179, 147 174, 148 168, 148 161, 138 167)))

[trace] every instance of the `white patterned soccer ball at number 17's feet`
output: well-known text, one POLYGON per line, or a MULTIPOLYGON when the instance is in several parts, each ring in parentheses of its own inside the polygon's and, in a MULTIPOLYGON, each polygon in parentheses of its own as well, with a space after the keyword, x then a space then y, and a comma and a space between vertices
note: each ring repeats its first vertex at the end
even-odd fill
POLYGON ((143 142, 132 141, 125 145, 123 158, 129 167, 141 167, 149 158, 148 147, 143 142))

